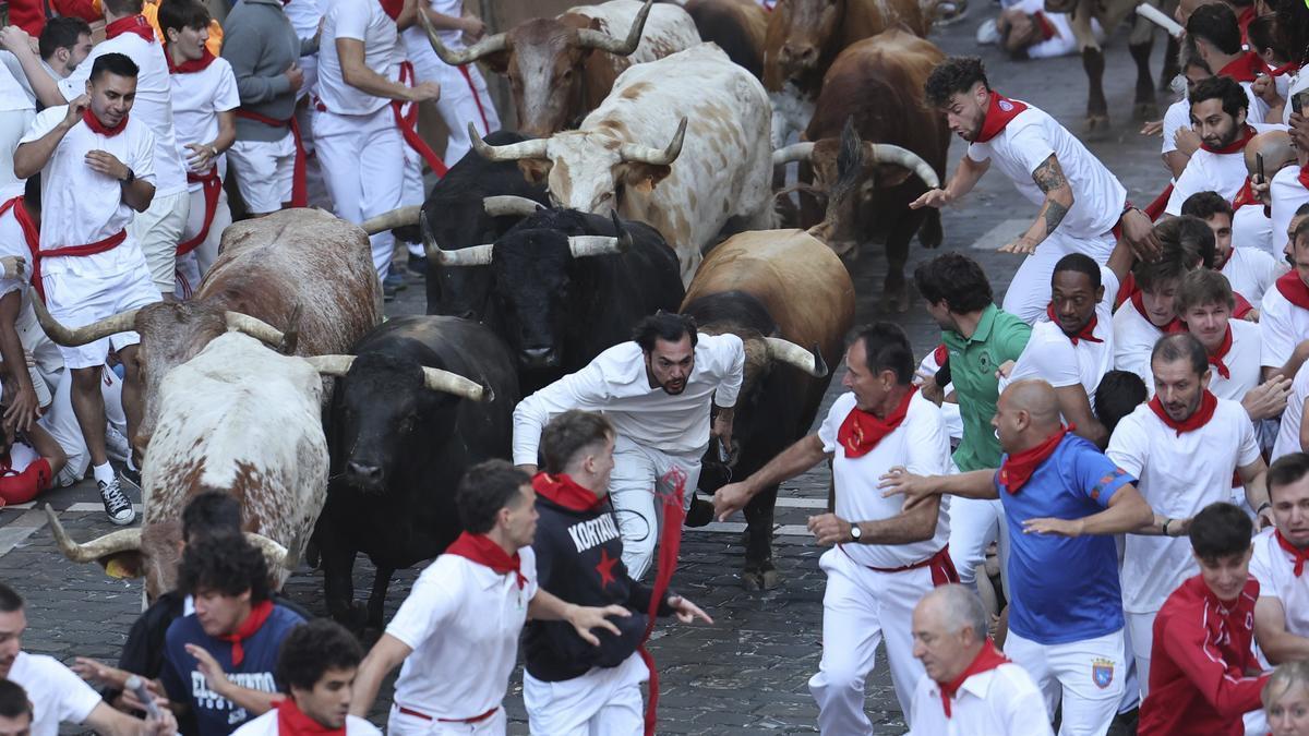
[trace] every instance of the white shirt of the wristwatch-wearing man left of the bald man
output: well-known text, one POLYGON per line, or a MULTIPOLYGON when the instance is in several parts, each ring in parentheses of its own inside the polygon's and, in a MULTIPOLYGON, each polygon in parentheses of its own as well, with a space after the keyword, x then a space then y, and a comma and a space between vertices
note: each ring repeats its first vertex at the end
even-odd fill
MULTIPOLYGON (((950 439, 945 432, 941 410, 914 392, 905 420, 891 433, 860 457, 846 457, 846 448, 836 436, 846 416, 855 409, 855 394, 836 397, 826 419, 818 427, 822 451, 833 456, 833 477, 836 486, 836 516, 855 521, 880 521, 901 513, 905 506, 898 496, 882 498, 878 479, 888 470, 903 465, 915 475, 945 475, 950 469, 950 439)), ((895 568, 914 564, 941 551, 950 538, 949 507, 942 498, 941 513, 936 517, 936 533, 931 540, 911 545, 842 545, 846 554, 859 564, 895 568)))

